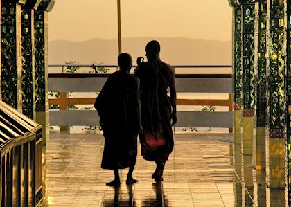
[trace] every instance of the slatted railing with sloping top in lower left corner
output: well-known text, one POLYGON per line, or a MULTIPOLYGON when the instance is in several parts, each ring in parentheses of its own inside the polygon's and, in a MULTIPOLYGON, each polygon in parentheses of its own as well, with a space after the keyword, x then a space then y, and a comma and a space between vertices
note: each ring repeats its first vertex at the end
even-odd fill
POLYGON ((0 101, 0 206, 42 206, 42 126, 0 101))

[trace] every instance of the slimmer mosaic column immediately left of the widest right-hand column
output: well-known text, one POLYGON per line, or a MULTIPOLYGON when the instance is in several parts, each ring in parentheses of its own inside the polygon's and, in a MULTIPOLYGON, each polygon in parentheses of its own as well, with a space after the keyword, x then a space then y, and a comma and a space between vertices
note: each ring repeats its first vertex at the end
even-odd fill
POLYGON ((256 110, 254 116, 254 167, 257 170, 265 169, 265 123, 266 123, 266 98, 265 98, 265 73, 266 59, 266 24, 267 1, 261 0, 255 3, 255 50, 254 69, 256 75, 256 110))

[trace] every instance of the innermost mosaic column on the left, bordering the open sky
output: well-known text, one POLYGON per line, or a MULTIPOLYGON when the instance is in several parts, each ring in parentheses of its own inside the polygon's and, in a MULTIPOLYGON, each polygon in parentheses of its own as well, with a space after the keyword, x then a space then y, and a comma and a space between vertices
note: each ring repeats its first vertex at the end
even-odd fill
POLYGON ((42 125, 42 143, 49 137, 48 107, 48 12, 55 0, 42 0, 35 10, 36 121, 42 125))

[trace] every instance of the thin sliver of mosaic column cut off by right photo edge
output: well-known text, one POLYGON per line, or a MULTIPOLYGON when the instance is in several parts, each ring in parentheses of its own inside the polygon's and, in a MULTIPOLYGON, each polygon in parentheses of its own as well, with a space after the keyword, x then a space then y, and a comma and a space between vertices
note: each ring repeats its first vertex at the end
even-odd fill
POLYGON ((288 204, 291 205, 291 2, 285 0, 285 75, 286 75, 286 113, 287 142, 287 186, 288 186, 288 204))

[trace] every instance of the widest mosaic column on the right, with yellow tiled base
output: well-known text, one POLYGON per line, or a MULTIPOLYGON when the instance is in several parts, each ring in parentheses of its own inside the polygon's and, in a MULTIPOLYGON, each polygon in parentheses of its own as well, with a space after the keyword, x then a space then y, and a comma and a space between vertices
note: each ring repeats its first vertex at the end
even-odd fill
POLYGON ((267 185, 285 188, 284 4, 267 0, 267 185))

